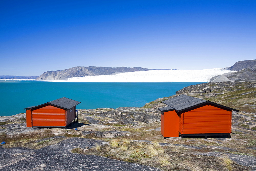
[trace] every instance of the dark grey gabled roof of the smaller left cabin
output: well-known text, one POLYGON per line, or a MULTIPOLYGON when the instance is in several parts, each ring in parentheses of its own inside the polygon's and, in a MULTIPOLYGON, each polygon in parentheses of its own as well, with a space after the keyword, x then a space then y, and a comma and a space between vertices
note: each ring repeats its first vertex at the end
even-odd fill
POLYGON ((74 106, 78 105, 79 103, 81 103, 81 102, 63 97, 63 98, 53 100, 53 101, 50 101, 50 102, 47 102, 47 103, 44 103, 44 104, 40 104, 40 105, 37 105, 37 106, 31 106, 31 107, 25 108, 25 110, 33 109, 33 108, 36 108, 36 107, 39 107, 39 106, 45 105, 45 104, 53 105, 53 106, 68 110, 68 109, 71 109, 74 106))

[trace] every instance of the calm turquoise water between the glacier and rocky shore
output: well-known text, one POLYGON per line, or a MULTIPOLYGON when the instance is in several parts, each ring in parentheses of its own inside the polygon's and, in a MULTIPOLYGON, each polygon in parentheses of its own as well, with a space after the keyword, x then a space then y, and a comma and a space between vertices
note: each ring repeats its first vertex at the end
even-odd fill
POLYGON ((0 81, 0 116, 25 112, 29 106, 66 97, 79 102, 77 109, 142 107, 157 98, 202 82, 40 82, 0 81))

